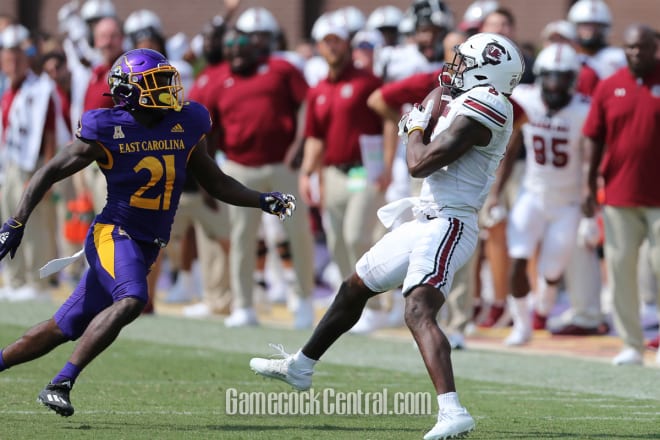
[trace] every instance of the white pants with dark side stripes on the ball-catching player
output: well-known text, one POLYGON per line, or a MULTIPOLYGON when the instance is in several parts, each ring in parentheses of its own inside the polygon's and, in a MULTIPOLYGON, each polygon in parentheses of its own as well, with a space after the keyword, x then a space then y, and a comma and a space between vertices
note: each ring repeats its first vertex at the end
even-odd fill
POLYGON ((426 284, 447 296, 454 274, 477 246, 478 233, 476 215, 473 221, 417 218, 385 234, 360 258, 355 270, 374 292, 403 285, 407 295, 426 284))

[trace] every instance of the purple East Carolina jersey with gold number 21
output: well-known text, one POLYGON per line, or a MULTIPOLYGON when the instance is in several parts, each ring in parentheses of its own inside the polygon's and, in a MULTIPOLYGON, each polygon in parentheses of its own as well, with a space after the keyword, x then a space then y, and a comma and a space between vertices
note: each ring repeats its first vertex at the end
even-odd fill
POLYGON ((166 111, 152 127, 120 106, 85 112, 76 136, 106 153, 97 163, 108 195, 95 222, 120 226, 134 240, 167 243, 188 159, 210 127, 208 111, 196 102, 166 111))

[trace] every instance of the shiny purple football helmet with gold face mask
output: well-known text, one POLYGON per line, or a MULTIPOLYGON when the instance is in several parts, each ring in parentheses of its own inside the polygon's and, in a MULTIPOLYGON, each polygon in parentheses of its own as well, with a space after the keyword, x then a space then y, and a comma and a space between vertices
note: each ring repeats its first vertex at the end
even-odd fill
POLYGON ((115 104, 130 110, 181 110, 183 86, 179 72, 160 52, 133 49, 121 55, 108 73, 115 104))

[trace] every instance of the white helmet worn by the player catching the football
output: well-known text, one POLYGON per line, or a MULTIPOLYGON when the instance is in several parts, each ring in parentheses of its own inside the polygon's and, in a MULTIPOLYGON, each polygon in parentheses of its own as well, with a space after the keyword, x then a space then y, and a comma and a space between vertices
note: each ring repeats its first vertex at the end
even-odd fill
POLYGON ((451 63, 442 68, 440 83, 460 94, 477 86, 491 86, 510 94, 525 70, 523 56, 511 40, 493 33, 479 33, 456 48, 451 63))

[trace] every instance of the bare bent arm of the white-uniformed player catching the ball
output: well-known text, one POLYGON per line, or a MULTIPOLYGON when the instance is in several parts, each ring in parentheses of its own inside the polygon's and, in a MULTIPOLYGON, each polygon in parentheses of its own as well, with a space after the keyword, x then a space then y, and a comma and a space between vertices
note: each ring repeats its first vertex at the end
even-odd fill
POLYGON ((418 178, 449 165, 475 145, 487 145, 491 138, 487 127, 462 115, 428 145, 424 144, 423 135, 423 129, 408 130, 406 162, 410 175, 418 178))

